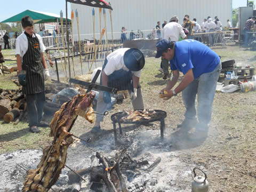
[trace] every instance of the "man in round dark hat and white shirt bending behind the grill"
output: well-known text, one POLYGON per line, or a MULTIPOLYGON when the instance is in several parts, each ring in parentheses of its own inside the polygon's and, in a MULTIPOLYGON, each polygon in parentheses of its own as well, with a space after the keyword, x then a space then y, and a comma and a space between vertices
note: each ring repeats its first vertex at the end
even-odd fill
MULTIPOLYGON (((102 66, 100 84, 121 90, 129 90, 133 109, 144 109, 139 79, 141 69, 145 65, 145 57, 138 49, 121 48, 107 56, 102 66)), ((97 113, 104 113, 111 102, 109 92, 99 93, 97 113)), ((103 115, 96 116, 92 132, 100 131, 103 115)))

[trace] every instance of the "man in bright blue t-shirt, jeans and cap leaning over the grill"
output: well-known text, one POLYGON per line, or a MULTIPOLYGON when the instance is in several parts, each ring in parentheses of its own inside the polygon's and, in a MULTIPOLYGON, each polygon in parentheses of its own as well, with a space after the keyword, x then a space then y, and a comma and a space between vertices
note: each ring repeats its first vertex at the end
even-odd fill
POLYGON ((186 107, 185 119, 178 125, 182 130, 189 131, 196 126, 192 135, 195 139, 205 139, 209 130, 212 114, 212 102, 221 71, 219 56, 209 47, 193 39, 180 42, 171 42, 162 39, 156 44, 156 58, 162 56, 170 61, 173 78, 167 82, 165 100, 176 96, 182 91, 183 102, 186 107), (184 77, 180 84, 171 90, 177 83, 180 71, 184 77), (195 99, 197 94, 198 106, 196 119, 195 99))

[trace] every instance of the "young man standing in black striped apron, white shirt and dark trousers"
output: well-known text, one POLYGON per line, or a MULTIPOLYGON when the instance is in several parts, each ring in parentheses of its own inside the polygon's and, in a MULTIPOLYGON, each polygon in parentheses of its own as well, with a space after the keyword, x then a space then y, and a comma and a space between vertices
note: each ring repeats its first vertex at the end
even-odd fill
POLYGON ((34 22, 29 16, 21 19, 25 30, 16 42, 18 79, 26 94, 29 130, 39 133, 38 126, 47 126, 41 121, 45 93, 44 81, 50 77, 43 52, 46 50, 40 35, 34 33, 34 22))

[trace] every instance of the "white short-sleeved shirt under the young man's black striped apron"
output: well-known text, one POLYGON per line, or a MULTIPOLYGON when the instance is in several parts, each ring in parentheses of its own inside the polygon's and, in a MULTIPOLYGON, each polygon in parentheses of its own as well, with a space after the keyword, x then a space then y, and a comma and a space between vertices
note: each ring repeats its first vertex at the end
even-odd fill
MULTIPOLYGON (((35 35, 33 34, 33 37, 35 37, 35 35)), ((39 40, 39 47, 40 47, 40 52, 43 53, 46 48, 43 44, 42 41, 42 37, 38 34, 36 34, 36 37, 39 40)), ((16 51, 15 51, 15 55, 19 54, 21 57, 21 62, 22 62, 22 58, 25 55, 25 53, 28 50, 28 38, 26 36, 26 34, 23 32, 21 35, 18 36, 17 40, 16 40, 16 51)))

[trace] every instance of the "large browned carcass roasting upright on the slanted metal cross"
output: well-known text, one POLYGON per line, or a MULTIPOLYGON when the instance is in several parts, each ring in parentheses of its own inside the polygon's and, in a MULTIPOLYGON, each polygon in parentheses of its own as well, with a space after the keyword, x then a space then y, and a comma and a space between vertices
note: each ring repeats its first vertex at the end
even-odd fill
POLYGON ((94 92, 78 94, 72 100, 63 103, 60 110, 54 114, 50 124, 50 137, 54 137, 52 145, 43 150, 37 169, 27 171, 23 192, 48 191, 58 180, 66 163, 68 146, 73 143, 72 134, 69 132, 77 115, 84 117, 90 123, 94 122, 92 109, 94 97, 94 92))

